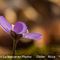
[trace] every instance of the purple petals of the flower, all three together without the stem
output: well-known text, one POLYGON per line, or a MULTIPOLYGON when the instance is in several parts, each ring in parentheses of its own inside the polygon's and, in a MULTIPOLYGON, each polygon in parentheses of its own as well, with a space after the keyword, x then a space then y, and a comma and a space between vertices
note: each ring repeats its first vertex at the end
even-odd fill
POLYGON ((16 34, 22 34, 23 38, 38 40, 41 38, 39 33, 29 33, 24 22, 16 22, 15 25, 10 24, 3 16, 0 16, 0 26, 5 32, 14 31, 16 34))

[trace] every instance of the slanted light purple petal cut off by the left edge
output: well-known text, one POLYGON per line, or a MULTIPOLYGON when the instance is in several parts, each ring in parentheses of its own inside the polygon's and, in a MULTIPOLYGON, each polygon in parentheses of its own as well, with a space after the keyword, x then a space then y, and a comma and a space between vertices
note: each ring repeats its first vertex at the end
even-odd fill
POLYGON ((11 24, 3 16, 0 16, 0 26, 5 32, 9 32, 12 29, 11 24))

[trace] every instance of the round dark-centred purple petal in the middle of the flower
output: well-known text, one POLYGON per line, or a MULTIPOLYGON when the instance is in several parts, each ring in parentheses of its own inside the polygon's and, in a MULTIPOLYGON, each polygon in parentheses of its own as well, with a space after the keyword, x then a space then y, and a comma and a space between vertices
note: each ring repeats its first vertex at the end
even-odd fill
POLYGON ((13 29, 17 34, 23 34, 27 31, 27 26, 23 22, 17 22, 13 29))

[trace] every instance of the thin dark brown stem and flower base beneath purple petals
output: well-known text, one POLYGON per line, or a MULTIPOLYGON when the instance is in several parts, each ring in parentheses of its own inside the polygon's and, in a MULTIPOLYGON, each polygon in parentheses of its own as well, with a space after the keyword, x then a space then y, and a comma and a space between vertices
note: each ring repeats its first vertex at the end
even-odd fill
POLYGON ((12 60, 16 60, 16 58, 14 56, 16 56, 16 45, 17 45, 17 43, 19 41, 17 39, 19 39, 20 37, 22 37, 22 35, 18 35, 17 36, 16 33, 13 32, 13 31, 11 31, 11 33, 8 34, 8 35, 13 40, 13 47, 12 47, 12 49, 13 49, 13 53, 12 53, 13 58, 12 58, 12 60))

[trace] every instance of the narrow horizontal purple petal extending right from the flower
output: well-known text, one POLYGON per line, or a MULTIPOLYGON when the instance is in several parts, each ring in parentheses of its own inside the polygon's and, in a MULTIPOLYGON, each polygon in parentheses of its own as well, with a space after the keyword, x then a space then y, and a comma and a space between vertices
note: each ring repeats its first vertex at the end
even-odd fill
POLYGON ((25 33, 23 34, 24 38, 38 40, 41 39, 42 35, 39 33, 25 33))

